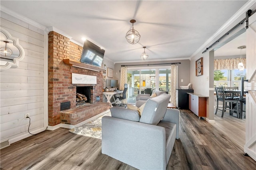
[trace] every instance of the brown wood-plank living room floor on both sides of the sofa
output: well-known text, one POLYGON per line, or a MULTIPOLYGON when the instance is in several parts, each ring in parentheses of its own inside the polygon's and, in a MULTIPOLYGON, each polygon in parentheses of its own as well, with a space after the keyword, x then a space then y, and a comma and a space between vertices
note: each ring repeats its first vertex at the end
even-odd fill
MULTIPOLYGON (((212 124, 180 110, 180 139, 167 170, 253 170, 256 162, 212 124)), ((101 153, 101 140, 65 128, 46 130, 1 150, 1 170, 135 170, 101 153)))

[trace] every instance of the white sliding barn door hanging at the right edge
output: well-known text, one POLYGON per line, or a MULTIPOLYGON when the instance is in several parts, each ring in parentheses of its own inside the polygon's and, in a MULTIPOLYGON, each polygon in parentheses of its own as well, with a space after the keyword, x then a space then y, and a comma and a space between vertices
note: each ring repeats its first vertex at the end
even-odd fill
POLYGON ((256 13, 249 18, 246 30, 246 144, 244 152, 256 160, 256 13))

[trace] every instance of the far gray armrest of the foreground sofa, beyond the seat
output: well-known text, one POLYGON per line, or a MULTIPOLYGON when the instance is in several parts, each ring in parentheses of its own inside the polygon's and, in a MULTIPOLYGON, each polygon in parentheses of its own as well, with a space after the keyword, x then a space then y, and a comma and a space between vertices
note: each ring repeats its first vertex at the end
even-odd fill
POLYGON ((180 126, 180 110, 167 108, 162 121, 175 123, 177 126, 176 139, 179 139, 179 126, 180 126))

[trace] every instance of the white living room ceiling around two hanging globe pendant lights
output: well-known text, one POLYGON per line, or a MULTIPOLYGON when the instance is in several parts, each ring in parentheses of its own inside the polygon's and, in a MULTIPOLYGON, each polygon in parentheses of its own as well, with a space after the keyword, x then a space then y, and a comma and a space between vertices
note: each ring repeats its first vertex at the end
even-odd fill
MULTIPOLYGON (((104 57, 114 62, 140 61, 146 46, 148 61, 188 59, 246 0, 94 0, 12 1, 1 0, 7 9, 45 26, 53 26, 83 44, 86 38, 105 49, 104 57), (140 42, 130 44, 125 35, 131 29, 140 42)), ((237 55, 240 55, 236 44, 237 55)), ((218 50, 217 50, 218 51, 218 50)), ((224 50, 224 52, 226 52, 224 50)), ((219 53, 218 55, 222 55, 219 53)))

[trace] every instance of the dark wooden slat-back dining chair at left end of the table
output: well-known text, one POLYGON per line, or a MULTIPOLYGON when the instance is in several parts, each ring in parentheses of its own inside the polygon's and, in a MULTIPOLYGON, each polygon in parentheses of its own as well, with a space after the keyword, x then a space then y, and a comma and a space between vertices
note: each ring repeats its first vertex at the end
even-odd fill
POLYGON ((218 110, 220 110, 222 111, 221 117, 223 117, 226 109, 229 109, 230 113, 234 113, 234 111, 236 111, 237 118, 239 118, 239 99, 235 99, 231 96, 226 95, 224 87, 215 87, 215 90, 217 96, 217 108, 215 115, 217 114, 218 110), (223 102, 222 110, 219 109, 219 101, 223 102), (229 107, 227 107, 227 103, 230 103, 229 107), (236 104, 235 107, 233 107, 234 103, 236 104))

